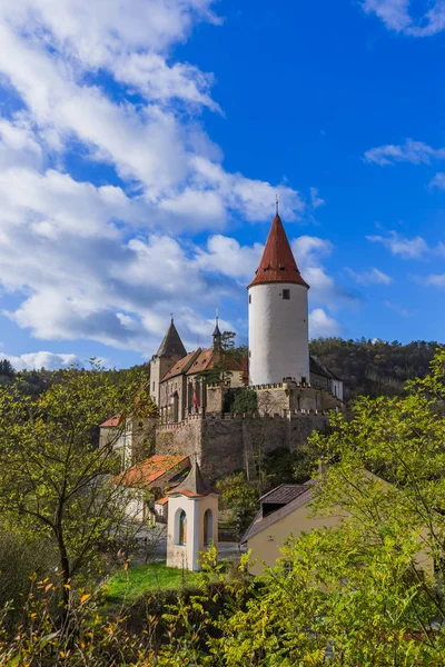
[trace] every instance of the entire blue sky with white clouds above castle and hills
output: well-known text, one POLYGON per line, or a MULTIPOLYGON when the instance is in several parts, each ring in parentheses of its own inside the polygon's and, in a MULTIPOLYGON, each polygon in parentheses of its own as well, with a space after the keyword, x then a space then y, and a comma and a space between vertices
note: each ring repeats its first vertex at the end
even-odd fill
POLYGON ((246 341, 275 193, 312 336, 443 341, 445 2, 0 0, 0 356, 246 341))

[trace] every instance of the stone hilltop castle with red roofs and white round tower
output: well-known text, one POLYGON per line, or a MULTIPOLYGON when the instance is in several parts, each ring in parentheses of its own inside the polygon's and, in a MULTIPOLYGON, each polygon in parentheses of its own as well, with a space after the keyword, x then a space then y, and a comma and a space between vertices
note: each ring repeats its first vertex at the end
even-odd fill
POLYGON ((258 456, 295 450, 342 409, 343 382, 309 356, 308 289, 278 215, 247 287, 248 359, 224 359, 224 378, 209 384, 220 367, 218 319, 208 349, 188 352, 174 320, 150 361, 150 395, 159 409, 157 455, 185 455, 216 479, 234 470, 255 475, 258 456), (225 412, 227 392, 255 390, 254 415, 225 412))

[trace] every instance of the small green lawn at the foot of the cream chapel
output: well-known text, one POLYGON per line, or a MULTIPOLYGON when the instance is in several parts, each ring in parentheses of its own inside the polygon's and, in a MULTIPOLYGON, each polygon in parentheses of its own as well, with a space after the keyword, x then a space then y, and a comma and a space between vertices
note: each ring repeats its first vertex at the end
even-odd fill
POLYGON ((132 603, 138 596, 160 589, 195 588, 201 573, 167 567, 165 563, 150 563, 119 571, 108 581, 107 598, 112 604, 132 603))

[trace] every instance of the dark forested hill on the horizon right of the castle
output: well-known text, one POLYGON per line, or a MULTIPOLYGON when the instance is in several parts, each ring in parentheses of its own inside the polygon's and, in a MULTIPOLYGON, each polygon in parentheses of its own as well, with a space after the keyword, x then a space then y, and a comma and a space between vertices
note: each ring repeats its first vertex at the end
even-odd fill
POLYGON ((425 376, 438 347, 424 340, 402 345, 397 340, 317 338, 310 342, 310 354, 344 380, 348 400, 359 395, 402 394, 406 380, 425 376))

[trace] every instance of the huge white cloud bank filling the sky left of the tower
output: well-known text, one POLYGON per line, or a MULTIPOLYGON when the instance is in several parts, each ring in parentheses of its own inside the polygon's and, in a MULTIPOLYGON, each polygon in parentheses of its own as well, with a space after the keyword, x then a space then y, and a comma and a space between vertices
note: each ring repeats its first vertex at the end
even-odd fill
POLYGON ((0 287, 20 300, 8 316, 36 338, 149 355, 174 310, 194 340, 261 248, 215 232, 233 216, 270 220, 276 192, 288 221, 320 206, 315 189, 307 205, 287 185, 224 168, 198 117, 220 111, 214 77, 172 57, 198 21, 219 22, 211 7, 0 0, 0 86, 21 102, 0 117, 0 287), (70 152, 118 185, 76 180, 70 152), (209 235, 204 250, 196 232, 209 235))

